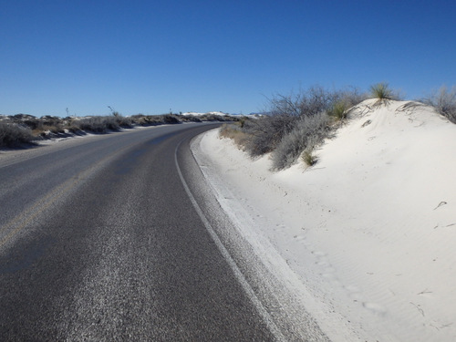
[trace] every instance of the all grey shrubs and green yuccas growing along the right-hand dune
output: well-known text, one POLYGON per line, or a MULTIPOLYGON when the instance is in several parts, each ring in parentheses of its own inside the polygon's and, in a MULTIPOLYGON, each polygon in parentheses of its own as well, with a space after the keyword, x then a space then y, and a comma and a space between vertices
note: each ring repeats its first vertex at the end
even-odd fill
MULTIPOLYGON (((316 148, 344 124, 351 109, 368 98, 376 98, 375 105, 381 106, 401 97, 388 83, 375 84, 367 93, 357 88, 311 87, 289 96, 276 95, 269 100, 264 116, 247 119, 243 125, 223 125, 220 135, 233 139, 252 158, 271 153, 274 171, 296 161, 313 166, 317 162, 316 148)), ((456 88, 441 88, 421 102, 456 123, 456 88)))

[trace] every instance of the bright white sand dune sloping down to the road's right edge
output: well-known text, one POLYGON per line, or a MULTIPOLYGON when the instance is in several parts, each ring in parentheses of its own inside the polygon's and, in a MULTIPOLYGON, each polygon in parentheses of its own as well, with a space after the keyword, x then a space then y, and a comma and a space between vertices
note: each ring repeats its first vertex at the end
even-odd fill
POLYGON ((246 234, 298 275, 332 340, 455 341, 456 125, 417 103, 373 104, 312 168, 271 172, 216 130, 192 149, 215 191, 250 215, 246 234))

